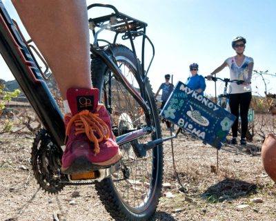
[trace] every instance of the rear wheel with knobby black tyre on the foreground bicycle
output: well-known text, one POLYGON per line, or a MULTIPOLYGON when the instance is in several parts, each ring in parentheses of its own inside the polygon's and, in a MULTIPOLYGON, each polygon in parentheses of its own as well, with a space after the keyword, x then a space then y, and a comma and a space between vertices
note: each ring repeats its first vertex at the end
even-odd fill
MULTIPOLYGON (((146 157, 138 158, 133 145, 161 137, 161 128, 155 99, 148 79, 141 84, 137 77, 137 59, 126 46, 112 45, 106 52, 116 58, 123 75, 132 87, 140 91, 146 87, 146 102, 150 107, 150 123, 155 132, 134 142, 120 146, 124 155, 123 169, 95 185, 101 202, 115 220, 148 220, 154 213, 161 194, 163 176, 163 147, 156 146, 146 157)), ((123 84, 110 72, 103 61, 92 58, 92 81, 101 88, 101 100, 112 109, 111 118, 115 135, 122 135, 146 125, 144 110, 128 93, 123 84), (102 77, 103 76, 103 77, 102 77)))

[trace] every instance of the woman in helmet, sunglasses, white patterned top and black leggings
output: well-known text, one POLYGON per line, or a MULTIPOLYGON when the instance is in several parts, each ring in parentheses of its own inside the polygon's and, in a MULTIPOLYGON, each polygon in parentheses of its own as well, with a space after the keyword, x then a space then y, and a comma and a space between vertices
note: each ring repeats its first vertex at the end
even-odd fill
POLYGON ((234 57, 229 57, 221 66, 208 75, 208 79, 219 73, 226 66, 230 69, 230 80, 243 80, 244 84, 230 83, 229 86, 229 106, 230 111, 236 116, 236 120, 232 126, 233 138, 231 144, 237 144, 237 128, 239 115, 242 119, 242 134, 241 145, 246 145, 246 133, 248 130, 248 109, 251 102, 251 77, 253 72, 254 61, 252 57, 244 55, 246 47, 246 39, 244 37, 236 37, 232 41, 232 48, 236 54, 234 57))

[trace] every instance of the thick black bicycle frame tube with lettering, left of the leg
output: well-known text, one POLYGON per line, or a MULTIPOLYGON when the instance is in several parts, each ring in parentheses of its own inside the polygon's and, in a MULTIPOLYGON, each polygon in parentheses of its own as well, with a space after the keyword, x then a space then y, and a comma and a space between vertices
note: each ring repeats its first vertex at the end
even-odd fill
POLYGON ((53 142, 59 146, 63 145, 65 130, 61 111, 43 81, 41 70, 28 44, 20 35, 1 0, 0 52, 53 142))

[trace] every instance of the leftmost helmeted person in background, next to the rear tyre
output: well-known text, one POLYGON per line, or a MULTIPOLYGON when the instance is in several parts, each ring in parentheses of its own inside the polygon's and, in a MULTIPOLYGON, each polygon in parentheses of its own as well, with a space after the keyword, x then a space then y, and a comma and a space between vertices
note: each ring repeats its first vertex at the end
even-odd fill
MULTIPOLYGON (((164 106, 168 100, 168 97, 170 97, 170 93, 172 93, 173 88, 175 88, 175 86, 170 83, 170 75, 169 74, 165 75, 165 83, 162 83, 159 86, 159 89, 157 90, 157 93, 155 94, 155 99, 156 99, 156 97, 159 95, 159 91, 162 90, 162 95, 161 95, 162 102, 161 102, 160 109, 164 108, 164 106)), ((167 128, 170 128, 170 122, 168 122, 168 121, 164 121, 164 122, 166 122, 167 128)))

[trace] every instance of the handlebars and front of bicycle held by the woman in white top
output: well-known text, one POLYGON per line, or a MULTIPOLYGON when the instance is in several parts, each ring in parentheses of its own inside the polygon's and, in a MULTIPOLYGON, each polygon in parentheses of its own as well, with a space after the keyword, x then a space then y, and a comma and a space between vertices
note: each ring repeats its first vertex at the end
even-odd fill
MULTIPOLYGON (((206 79, 208 79, 208 77, 205 77, 206 79)), ((229 111, 230 112, 230 106, 229 106, 229 97, 230 97, 230 94, 227 93, 227 88, 228 88, 228 83, 236 83, 238 85, 240 84, 244 84, 244 81, 243 80, 230 80, 229 78, 224 78, 224 79, 221 79, 220 77, 211 77, 211 80, 212 81, 217 81, 217 80, 220 80, 220 81, 224 81, 224 93, 220 94, 217 96, 217 104, 219 106, 221 106, 222 108, 224 108, 226 111, 229 111)))

